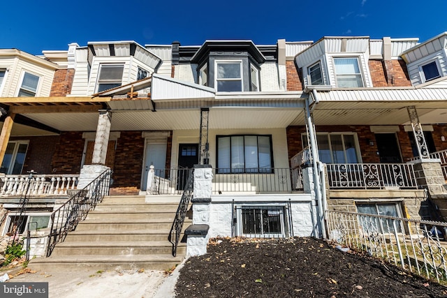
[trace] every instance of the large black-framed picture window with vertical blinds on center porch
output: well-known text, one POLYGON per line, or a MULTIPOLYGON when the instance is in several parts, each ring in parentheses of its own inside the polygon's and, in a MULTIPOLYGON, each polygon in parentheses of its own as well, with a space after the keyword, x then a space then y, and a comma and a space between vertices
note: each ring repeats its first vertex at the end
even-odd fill
POLYGON ((219 173, 271 173, 270 135, 217 136, 219 173))

